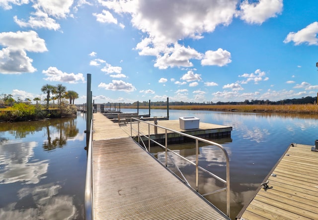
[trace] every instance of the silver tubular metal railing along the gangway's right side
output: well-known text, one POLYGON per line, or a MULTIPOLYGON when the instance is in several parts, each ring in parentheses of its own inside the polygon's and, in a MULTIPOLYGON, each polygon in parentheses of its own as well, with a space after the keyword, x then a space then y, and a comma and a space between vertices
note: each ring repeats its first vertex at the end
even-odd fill
MULTIPOLYGON (((162 127, 162 126, 159 126, 157 124, 153 124, 153 123, 150 123, 150 122, 147 122, 147 121, 143 121, 143 120, 140 120, 138 118, 134 118, 132 117, 131 120, 130 120, 130 129, 131 129, 131 136, 133 137, 133 131, 136 131, 137 132, 137 135, 136 137, 138 136, 138 142, 142 142, 145 149, 147 151, 150 152, 150 145, 151 145, 151 142, 157 144, 158 146, 160 146, 161 148, 165 149, 165 166, 167 166, 168 162, 167 162, 167 157, 169 157, 171 159, 171 157, 168 155, 168 152, 171 152, 172 154, 176 155, 177 157, 180 157, 182 158, 183 160, 187 161, 188 163, 190 163, 191 165, 194 165, 195 166, 195 184, 196 184, 196 188, 195 190, 198 192, 199 191, 199 169, 202 170, 203 172, 209 174, 210 176, 213 176, 214 178, 218 179, 219 181, 223 182, 226 187, 224 188, 221 188, 221 189, 218 189, 218 190, 215 190, 215 191, 212 191, 212 192, 209 192, 209 193, 205 193, 203 194, 202 196, 208 196, 208 195, 211 195, 211 194, 215 194, 215 193, 219 193, 219 192, 223 192, 223 191, 227 191, 227 216, 230 217, 230 202, 231 202, 231 199, 230 199, 230 195, 231 195, 231 191, 230 191, 230 159, 229 159, 229 155, 227 153, 227 151, 224 149, 224 147, 218 143, 215 143, 213 141, 209 141, 209 140, 206 140, 206 139, 203 139, 203 138, 199 138, 199 137, 196 137, 196 136, 193 136, 193 135, 189 135, 189 134, 185 134, 185 133, 182 133, 182 132, 179 132, 179 131, 175 131, 175 130, 172 130, 172 129, 169 129, 169 128, 166 128, 166 127, 162 127), (135 129, 133 128, 133 123, 132 121, 138 121, 138 128, 135 129), (146 123, 148 124, 148 134, 145 135, 143 134, 141 131, 140 131, 140 126, 139 124, 140 123, 146 123), (159 142, 151 139, 151 133, 150 133, 150 126, 154 126, 154 129, 156 130, 156 128, 161 128, 161 129, 164 129, 165 132, 164 132, 164 136, 165 136, 165 145, 162 145, 160 144, 159 142), (195 140, 195 151, 196 151, 196 156, 195 156, 195 163, 186 159, 185 157, 182 157, 181 155, 175 153, 174 151, 168 149, 168 138, 167 138, 167 131, 171 131, 173 133, 176 133, 176 134, 179 134, 179 135, 182 135, 182 136, 185 136, 185 137, 188 137, 188 138, 191 138, 191 139, 194 139, 195 140), (145 137, 146 139, 148 139, 148 149, 144 143, 144 141, 142 140, 141 137, 145 137), (218 175, 210 172, 209 170, 199 166, 199 141, 201 142, 204 142, 204 143, 207 143, 209 145, 213 145, 213 146, 217 146, 219 147, 225 157, 226 157, 226 180, 224 180, 223 178, 219 177, 218 175)), ((171 159, 171 161, 173 162, 173 160, 171 159)), ((174 163, 174 162, 173 162, 174 163)), ((174 164, 175 165, 175 164, 174 164)), ((176 166, 176 165, 175 165, 176 166)), ((193 188, 189 183, 188 181, 186 180, 185 176, 182 174, 182 172, 180 171, 180 169, 176 166, 176 168, 178 169, 178 171, 180 172, 184 182, 189 185, 191 188, 193 188)))

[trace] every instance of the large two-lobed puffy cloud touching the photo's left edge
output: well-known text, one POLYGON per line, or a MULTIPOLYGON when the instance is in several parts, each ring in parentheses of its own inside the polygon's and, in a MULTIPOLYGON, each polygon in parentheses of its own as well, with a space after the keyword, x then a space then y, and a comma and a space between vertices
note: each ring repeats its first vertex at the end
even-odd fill
POLYGON ((0 73, 19 74, 35 72, 33 60, 26 52, 43 53, 47 51, 45 41, 35 31, 0 33, 0 73))

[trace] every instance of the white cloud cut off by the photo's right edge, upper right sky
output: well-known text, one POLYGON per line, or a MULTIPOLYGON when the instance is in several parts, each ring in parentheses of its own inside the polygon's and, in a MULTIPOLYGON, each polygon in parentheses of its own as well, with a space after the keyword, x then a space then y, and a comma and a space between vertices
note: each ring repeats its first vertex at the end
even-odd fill
POLYGON ((294 42, 295 45, 307 43, 308 45, 318 45, 318 22, 311 23, 306 28, 298 32, 290 32, 284 43, 294 42))

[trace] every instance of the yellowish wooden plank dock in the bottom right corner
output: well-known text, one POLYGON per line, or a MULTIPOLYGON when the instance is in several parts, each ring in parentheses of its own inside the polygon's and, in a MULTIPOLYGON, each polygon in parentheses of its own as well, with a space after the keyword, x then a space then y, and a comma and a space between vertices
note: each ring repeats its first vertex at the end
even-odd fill
POLYGON ((256 195, 239 213, 239 220, 318 219, 318 152, 291 144, 256 195))

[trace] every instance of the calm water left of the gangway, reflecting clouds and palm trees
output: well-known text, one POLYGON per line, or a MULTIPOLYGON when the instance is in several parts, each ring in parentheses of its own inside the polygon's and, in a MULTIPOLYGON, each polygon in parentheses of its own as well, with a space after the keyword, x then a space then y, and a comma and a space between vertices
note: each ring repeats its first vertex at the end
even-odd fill
POLYGON ((83 115, 0 124, 0 219, 83 219, 83 115))

